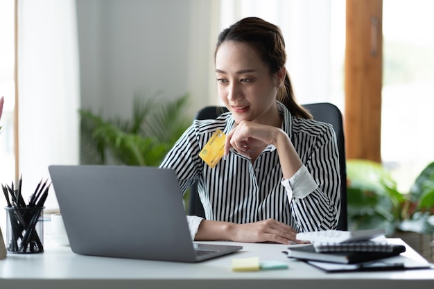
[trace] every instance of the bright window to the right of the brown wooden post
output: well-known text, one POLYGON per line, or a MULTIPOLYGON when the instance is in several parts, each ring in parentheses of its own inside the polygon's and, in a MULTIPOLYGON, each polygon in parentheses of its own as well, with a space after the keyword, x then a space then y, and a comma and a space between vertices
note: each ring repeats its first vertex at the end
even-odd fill
POLYGON ((381 156, 399 189, 434 161, 431 0, 383 1, 381 156))

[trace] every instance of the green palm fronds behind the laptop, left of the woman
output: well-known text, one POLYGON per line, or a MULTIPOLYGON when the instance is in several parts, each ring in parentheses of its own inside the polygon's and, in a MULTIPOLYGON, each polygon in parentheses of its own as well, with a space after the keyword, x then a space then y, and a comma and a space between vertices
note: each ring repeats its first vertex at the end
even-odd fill
POLYGON ((191 124, 188 95, 161 102, 136 95, 131 119, 80 110, 81 164, 158 166, 191 124))

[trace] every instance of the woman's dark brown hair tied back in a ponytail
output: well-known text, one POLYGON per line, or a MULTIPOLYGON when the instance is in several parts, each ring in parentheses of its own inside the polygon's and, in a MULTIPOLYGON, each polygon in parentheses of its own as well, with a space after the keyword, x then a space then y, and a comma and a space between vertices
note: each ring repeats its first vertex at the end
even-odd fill
MULTIPOLYGON (((261 18, 248 17, 232 24, 218 35, 214 59, 220 44, 225 41, 243 42, 257 51, 259 58, 270 69, 270 73, 277 73, 286 63, 284 37, 278 26, 261 18)), ((284 86, 277 92, 277 100, 288 107, 293 116, 312 119, 312 115, 295 100, 289 73, 286 72, 284 86)))

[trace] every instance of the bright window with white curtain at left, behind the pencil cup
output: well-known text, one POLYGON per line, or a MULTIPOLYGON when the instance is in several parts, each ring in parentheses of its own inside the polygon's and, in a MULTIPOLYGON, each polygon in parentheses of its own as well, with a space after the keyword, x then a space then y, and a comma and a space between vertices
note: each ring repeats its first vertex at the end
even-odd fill
MULTIPOLYGON (((78 42, 76 2, 0 1, 0 96, 5 97, 0 135, 0 182, 15 181, 15 164, 23 176, 24 198, 40 179, 49 177, 49 164, 78 162, 78 42), (15 3, 19 34, 19 105, 15 105, 15 3), (14 121, 14 111, 19 121, 14 121), (63 121, 68 120, 68 121, 63 121), (14 130, 19 143, 14 143, 14 130), (19 157, 15 155, 19 148, 19 157), (17 162, 19 160, 19 164, 17 162)), ((0 205, 6 205, 0 198, 0 205)), ((46 209, 57 209, 54 193, 46 209)))

